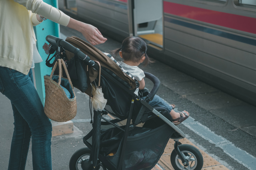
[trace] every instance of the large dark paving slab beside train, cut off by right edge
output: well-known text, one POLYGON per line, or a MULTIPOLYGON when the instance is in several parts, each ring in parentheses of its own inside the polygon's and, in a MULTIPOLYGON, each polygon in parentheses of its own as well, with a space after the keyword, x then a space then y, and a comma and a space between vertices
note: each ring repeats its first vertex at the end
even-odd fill
POLYGON ((252 105, 227 107, 211 110, 210 112, 230 123, 234 127, 241 128, 253 125, 256 126, 256 114, 254 114, 256 113, 256 107, 252 105))

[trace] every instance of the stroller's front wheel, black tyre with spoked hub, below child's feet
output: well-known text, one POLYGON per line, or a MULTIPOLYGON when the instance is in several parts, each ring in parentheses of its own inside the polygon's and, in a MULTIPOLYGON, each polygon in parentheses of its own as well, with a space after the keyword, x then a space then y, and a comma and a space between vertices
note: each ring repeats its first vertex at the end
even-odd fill
POLYGON ((178 146, 184 158, 188 160, 189 165, 182 164, 178 154, 175 150, 171 154, 171 163, 174 170, 201 170, 203 167, 204 159, 201 152, 194 146, 188 144, 181 144, 178 146))

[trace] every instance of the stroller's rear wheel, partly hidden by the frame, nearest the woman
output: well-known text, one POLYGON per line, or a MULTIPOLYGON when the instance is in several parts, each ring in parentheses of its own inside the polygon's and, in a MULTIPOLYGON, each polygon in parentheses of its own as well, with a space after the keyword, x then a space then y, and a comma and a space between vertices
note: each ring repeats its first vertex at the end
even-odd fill
MULTIPOLYGON (((91 150, 89 148, 78 149, 70 158, 69 169, 70 170, 93 170, 92 162, 85 162, 89 160, 90 153, 91 153, 91 150), (84 164, 86 164, 86 167, 88 168, 86 169, 83 168, 84 164)), ((102 170, 102 169, 104 169, 102 168, 102 166, 98 166, 97 168, 97 170, 102 170)))

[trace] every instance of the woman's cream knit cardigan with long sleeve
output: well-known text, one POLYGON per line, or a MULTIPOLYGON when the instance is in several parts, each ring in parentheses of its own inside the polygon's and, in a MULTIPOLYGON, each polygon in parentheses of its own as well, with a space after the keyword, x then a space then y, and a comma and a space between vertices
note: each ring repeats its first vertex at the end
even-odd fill
POLYGON ((42 0, 0 0, 0 66, 28 74, 33 60, 36 14, 67 26, 70 17, 42 0))

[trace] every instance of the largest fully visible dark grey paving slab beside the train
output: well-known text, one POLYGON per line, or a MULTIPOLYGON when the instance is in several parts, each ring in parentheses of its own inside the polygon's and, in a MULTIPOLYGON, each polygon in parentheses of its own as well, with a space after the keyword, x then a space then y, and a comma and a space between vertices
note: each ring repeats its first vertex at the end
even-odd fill
POLYGON ((248 105, 247 103, 221 91, 184 97, 208 111, 226 107, 248 105))

